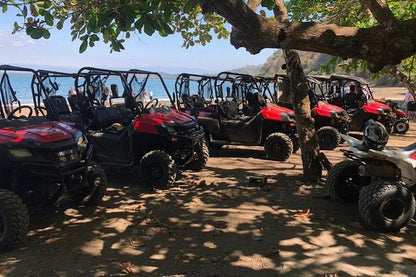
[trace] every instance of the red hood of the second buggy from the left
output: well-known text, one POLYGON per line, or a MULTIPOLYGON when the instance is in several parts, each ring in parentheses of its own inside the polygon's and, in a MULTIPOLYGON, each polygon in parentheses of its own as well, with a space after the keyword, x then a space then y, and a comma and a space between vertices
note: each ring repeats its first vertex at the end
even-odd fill
POLYGON ((185 124, 195 119, 184 112, 174 109, 164 110, 163 112, 146 113, 136 117, 134 129, 138 133, 158 134, 156 126, 162 123, 185 124))

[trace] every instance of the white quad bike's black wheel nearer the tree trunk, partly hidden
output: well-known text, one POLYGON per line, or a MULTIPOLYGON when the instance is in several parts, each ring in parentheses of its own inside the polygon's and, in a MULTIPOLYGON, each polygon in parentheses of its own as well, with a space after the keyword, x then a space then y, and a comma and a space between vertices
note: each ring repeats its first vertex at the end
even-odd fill
POLYGON ((360 189, 370 184, 370 177, 358 175, 359 162, 345 160, 337 163, 328 173, 327 187, 333 199, 357 202, 360 189))

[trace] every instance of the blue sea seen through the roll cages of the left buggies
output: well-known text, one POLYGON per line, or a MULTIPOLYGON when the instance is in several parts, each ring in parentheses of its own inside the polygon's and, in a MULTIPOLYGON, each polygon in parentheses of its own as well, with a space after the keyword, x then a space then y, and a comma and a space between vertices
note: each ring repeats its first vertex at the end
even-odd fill
MULTIPOLYGON (((26 73, 7 73, 10 79, 10 84, 12 89, 16 92, 17 98, 20 100, 21 103, 30 104, 32 102, 32 74, 26 73)), ((1 77, 3 73, 1 74, 1 77)), ((0 77, 0 78, 1 78, 0 77)), ((68 77, 57 77, 52 80, 53 83, 58 85, 58 90, 56 92, 57 95, 62 95, 64 97, 68 96, 69 91, 71 88, 75 88, 75 81, 73 78, 68 77)), ((164 79, 168 92, 170 93, 171 97, 173 97, 174 88, 175 88, 175 79, 164 79)), ((108 78, 106 80, 106 85, 108 87, 111 84, 116 84, 119 88, 119 94, 121 95, 123 92, 123 86, 121 84, 120 79, 118 78, 108 78)), ((49 85, 48 82, 45 83, 46 86, 49 85)), ((139 84, 136 83, 136 87, 139 84)), ((50 85, 49 85, 50 86, 50 85)), ((133 85, 133 89, 135 86, 133 85)), ((168 100, 169 96, 166 93, 166 90, 163 87, 162 82, 159 79, 148 79, 147 83, 145 84, 144 89, 147 91, 147 100, 149 100, 149 93, 152 91, 153 98, 158 98, 159 100, 168 100)))

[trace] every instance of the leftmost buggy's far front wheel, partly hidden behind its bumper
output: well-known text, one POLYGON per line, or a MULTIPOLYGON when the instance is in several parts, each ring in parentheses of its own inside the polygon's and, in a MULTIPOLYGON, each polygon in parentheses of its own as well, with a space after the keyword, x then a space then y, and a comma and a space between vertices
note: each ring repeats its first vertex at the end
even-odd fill
POLYGON ((84 205, 97 205, 107 191, 107 177, 104 170, 91 163, 87 169, 87 186, 75 197, 76 202, 84 205))

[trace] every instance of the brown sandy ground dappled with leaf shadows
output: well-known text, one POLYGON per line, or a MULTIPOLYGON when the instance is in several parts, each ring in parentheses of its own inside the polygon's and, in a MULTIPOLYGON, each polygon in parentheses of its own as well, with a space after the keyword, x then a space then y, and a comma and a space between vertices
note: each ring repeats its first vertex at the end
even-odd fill
MULTIPOLYGON (((412 122, 389 145, 415 135, 412 122)), ((336 163, 346 147, 325 154, 336 163)), ((234 146, 166 191, 111 172, 99 207, 33 217, 22 247, 0 254, 0 276, 416 275, 415 221, 395 234, 364 230, 355 204, 328 199, 324 183, 305 185, 301 174, 299 154, 275 162, 234 146)))

